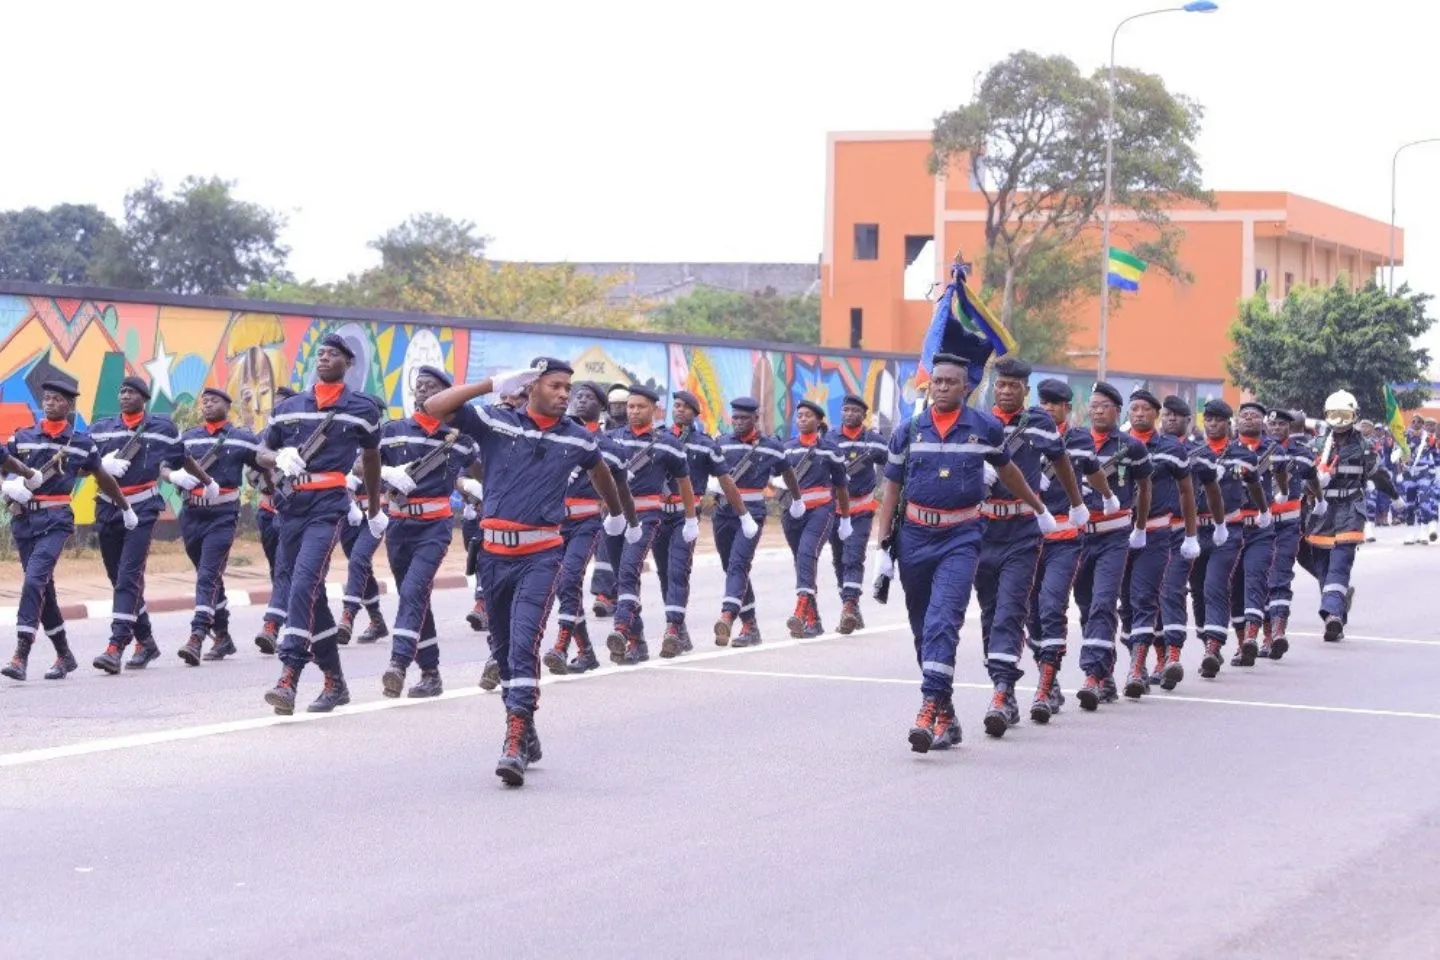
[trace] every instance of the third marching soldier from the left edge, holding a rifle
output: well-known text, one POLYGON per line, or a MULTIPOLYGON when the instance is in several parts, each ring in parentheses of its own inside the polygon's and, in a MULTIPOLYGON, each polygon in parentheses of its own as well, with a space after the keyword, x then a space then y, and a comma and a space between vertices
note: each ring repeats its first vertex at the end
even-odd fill
POLYGON ((240 518, 240 482, 246 468, 255 466, 259 438, 230 423, 230 394, 219 387, 200 391, 204 423, 180 436, 184 452, 196 458, 219 484, 217 495, 200 489, 200 481, 184 469, 161 468, 160 475, 186 492, 180 507, 180 538, 194 564, 194 616, 190 639, 179 656, 190 666, 202 659, 223 661, 235 653, 230 639, 230 610, 225 599, 225 567, 235 545, 235 527, 240 518), (215 633, 210 649, 202 653, 207 633, 215 633))

